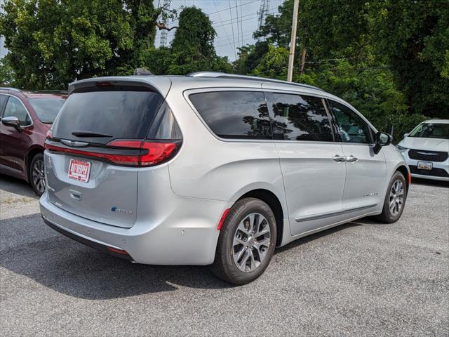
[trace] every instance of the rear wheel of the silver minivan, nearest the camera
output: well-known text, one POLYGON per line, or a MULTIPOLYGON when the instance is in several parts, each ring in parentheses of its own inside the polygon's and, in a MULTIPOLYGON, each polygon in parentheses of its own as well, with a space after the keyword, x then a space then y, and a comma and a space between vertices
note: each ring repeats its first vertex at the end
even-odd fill
POLYGON ((210 270, 232 284, 253 282, 267 269, 276 246, 276 219, 264 201, 246 198, 229 211, 210 270))

